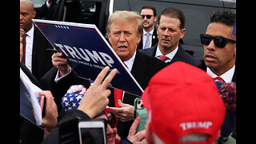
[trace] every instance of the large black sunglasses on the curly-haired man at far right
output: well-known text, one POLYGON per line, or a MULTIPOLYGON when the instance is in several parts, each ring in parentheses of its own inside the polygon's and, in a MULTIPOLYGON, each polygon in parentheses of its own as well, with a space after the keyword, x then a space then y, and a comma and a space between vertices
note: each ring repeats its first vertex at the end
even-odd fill
POLYGON ((220 36, 213 37, 208 34, 200 34, 200 38, 201 38, 202 45, 206 45, 206 46, 208 46, 210 42, 214 39, 214 45, 217 46, 218 48, 224 48, 227 42, 236 43, 236 41, 229 38, 224 38, 220 36))

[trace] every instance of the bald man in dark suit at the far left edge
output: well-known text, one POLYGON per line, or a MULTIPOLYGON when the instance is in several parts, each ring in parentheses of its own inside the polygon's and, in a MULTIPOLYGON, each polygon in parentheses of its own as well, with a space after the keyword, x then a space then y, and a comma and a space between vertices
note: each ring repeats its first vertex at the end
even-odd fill
POLYGON ((34 77, 39 80, 53 67, 51 62, 52 54, 46 51, 46 49, 50 49, 52 46, 32 22, 36 15, 33 3, 28 0, 22 0, 20 5, 20 28, 25 31, 22 34, 22 62, 34 77))

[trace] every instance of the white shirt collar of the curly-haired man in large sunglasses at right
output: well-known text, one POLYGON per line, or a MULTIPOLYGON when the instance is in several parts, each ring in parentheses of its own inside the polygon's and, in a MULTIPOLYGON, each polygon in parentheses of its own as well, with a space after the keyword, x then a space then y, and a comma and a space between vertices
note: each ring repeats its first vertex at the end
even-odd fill
MULTIPOLYGON (((234 76, 234 68, 235 68, 235 65, 230 70, 227 70, 226 73, 220 75, 219 77, 221 77, 226 83, 232 82, 232 78, 234 76)), ((209 67, 206 68, 206 73, 209 74, 212 78, 218 77, 218 75, 214 74, 214 72, 211 71, 209 67)))

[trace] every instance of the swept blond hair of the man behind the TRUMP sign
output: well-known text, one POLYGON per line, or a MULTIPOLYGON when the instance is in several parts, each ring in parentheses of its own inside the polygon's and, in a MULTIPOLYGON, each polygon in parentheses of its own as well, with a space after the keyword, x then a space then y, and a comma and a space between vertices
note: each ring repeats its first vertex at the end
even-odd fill
POLYGON ((139 15, 135 11, 127 11, 127 10, 118 10, 115 11, 113 14, 110 15, 109 20, 107 21, 106 31, 107 33, 110 33, 110 26, 115 21, 132 21, 136 23, 136 31, 138 35, 142 35, 142 16, 139 15))

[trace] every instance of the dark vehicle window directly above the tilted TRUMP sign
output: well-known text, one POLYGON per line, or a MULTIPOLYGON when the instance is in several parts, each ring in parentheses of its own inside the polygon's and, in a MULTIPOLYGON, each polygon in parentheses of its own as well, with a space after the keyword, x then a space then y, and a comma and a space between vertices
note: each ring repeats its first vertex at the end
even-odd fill
POLYGON ((102 2, 68 0, 65 3, 66 15, 64 21, 95 24, 98 26, 101 6, 102 2))

